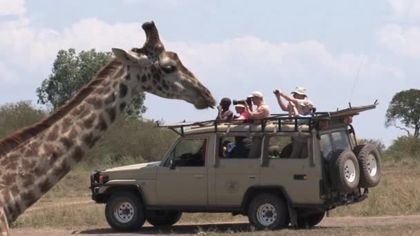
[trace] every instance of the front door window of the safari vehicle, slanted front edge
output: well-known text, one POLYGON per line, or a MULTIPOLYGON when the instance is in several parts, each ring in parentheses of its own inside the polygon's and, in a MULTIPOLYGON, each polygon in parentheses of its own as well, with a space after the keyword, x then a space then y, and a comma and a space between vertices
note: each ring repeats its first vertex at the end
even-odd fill
POLYGON ((164 166, 204 166, 206 160, 207 139, 182 139, 173 148, 164 166))

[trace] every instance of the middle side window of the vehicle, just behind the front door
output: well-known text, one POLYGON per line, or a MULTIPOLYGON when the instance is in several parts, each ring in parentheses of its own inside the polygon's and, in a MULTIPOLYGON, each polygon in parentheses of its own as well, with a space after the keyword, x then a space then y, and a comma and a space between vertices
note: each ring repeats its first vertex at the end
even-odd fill
POLYGON ((261 142, 251 137, 223 137, 219 139, 220 158, 258 158, 261 153, 261 142))

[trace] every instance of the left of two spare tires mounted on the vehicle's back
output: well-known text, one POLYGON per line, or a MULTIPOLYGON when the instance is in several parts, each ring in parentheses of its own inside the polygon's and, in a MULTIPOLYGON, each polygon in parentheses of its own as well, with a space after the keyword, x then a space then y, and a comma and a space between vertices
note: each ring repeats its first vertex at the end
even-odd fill
POLYGON ((359 162, 350 150, 334 153, 330 163, 332 187, 343 193, 350 193, 359 185, 359 162))

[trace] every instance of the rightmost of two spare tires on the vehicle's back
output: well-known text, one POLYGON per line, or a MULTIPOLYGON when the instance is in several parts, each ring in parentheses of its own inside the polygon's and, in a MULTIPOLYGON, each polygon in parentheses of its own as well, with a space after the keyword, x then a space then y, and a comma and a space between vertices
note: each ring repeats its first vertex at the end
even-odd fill
POLYGON ((359 187, 372 188, 381 181, 381 155, 373 144, 358 145, 353 150, 361 171, 359 187))

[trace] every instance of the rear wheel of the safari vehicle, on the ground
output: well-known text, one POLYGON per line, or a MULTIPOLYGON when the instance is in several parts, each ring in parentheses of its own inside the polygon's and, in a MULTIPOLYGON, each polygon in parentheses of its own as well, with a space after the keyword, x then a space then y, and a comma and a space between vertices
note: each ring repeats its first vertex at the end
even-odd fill
POLYGON ((249 204, 248 219, 258 230, 276 230, 289 224, 289 211, 283 199, 271 193, 263 193, 249 204))

